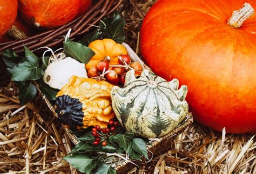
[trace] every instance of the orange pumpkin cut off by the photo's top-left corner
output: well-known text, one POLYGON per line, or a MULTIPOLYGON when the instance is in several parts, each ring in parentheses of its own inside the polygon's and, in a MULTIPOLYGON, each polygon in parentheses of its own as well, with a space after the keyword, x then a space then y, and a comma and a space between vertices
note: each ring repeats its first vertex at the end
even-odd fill
POLYGON ((14 24, 17 16, 18 2, 17 0, 0 1, 0 38, 14 24))

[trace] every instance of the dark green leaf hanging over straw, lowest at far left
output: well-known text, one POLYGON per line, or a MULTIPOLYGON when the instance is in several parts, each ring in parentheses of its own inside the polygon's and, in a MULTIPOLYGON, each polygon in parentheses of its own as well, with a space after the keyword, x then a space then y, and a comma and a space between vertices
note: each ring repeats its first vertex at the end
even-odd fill
POLYGON ((21 105, 25 105, 35 98, 37 93, 36 86, 32 83, 26 84, 19 89, 19 102, 21 105))

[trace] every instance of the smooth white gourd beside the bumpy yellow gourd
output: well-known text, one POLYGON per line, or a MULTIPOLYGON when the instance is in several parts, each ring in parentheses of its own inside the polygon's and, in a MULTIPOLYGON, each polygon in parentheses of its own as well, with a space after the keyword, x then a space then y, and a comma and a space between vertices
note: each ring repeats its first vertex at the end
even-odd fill
POLYGON ((69 82, 71 76, 87 78, 86 69, 83 63, 71 57, 66 57, 65 59, 50 63, 44 72, 43 80, 51 88, 60 90, 69 82))

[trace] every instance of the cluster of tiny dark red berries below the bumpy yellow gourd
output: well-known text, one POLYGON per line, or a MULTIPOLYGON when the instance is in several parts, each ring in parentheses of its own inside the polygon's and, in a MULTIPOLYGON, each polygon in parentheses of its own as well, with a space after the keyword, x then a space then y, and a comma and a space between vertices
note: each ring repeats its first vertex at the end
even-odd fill
POLYGON ((102 146, 106 146, 109 136, 114 134, 116 127, 119 125, 117 121, 110 120, 107 128, 100 128, 99 125, 96 125, 92 128, 92 135, 95 137, 95 141, 92 143, 93 145, 98 145, 102 143, 102 146))

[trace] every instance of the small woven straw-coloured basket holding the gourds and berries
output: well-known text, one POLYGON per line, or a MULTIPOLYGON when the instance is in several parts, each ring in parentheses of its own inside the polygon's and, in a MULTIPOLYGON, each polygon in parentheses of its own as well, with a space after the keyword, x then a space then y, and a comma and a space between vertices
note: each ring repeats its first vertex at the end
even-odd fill
MULTIPOLYGON (((152 71, 149 67, 146 66, 145 63, 143 63, 144 68, 148 69, 150 71, 152 71)), ((41 94, 42 95, 42 94, 41 94)), ((58 118, 58 114, 55 112, 55 108, 52 106, 51 102, 46 99, 43 95, 43 100, 45 101, 45 103, 48 105, 48 107, 50 108, 50 110, 52 111, 54 117, 58 118)), ((159 140, 160 141, 154 141, 150 146, 147 146, 147 155, 151 158, 152 155, 159 155, 159 154, 163 154, 164 152, 168 151, 171 148, 171 144, 173 142, 173 140, 181 133, 183 132, 186 127, 190 126, 193 122, 193 117, 192 114, 189 113, 185 120, 183 122, 181 122, 181 124, 174 129, 171 133, 160 137, 159 140)), ((72 134, 71 130, 65 126, 63 126, 63 129, 65 130, 66 134, 69 136, 70 140, 74 143, 74 144, 78 144, 79 140, 77 139, 76 135, 72 134)), ((133 163, 140 165, 142 164, 142 162, 140 161, 132 161, 133 163)), ((136 165, 130 163, 130 162, 123 162, 123 163, 119 163, 116 166, 116 171, 117 173, 127 173, 129 172, 131 169, 133 169, 136 165)))

